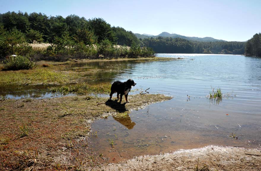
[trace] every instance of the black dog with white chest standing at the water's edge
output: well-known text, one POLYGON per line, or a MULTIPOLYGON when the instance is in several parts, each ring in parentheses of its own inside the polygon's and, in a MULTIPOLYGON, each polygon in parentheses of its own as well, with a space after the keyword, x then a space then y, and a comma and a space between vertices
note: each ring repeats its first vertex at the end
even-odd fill
POLYGON ((110 100, 112 100, 113 93, 117 92, 117 99, 119 99, 120 95, 120 102, 122 101, 122 96, 125 95, 126 103, 129 103, 130 101, 128 101, 128 93, 130 92, 132 86, 135 85, 136 83, 132 79, 128 79, 125 82, 115 81, 111 87, 110 100))

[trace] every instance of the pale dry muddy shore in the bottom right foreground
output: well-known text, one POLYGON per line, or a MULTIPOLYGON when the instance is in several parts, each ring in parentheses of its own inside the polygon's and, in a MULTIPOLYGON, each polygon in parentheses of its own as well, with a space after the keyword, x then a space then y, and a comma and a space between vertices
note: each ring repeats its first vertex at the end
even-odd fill
POLYGON ((178 150, 171 154, 139 156, 119 164, 108 164, 89 169, 110 171, 257 171, 261 170, 261 150, 254 148, 206 146, 191 150, 178 150))

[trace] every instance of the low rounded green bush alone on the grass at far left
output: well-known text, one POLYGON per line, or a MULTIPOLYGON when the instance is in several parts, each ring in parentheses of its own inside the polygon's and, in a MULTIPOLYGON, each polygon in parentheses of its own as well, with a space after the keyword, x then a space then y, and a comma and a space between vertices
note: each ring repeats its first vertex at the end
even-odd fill
POLYGON ((31 60, 28 57, 10 56, 6 60, 4 60, 3 70, 32 69, 34 66, 34 62, 31 62, 31 60))

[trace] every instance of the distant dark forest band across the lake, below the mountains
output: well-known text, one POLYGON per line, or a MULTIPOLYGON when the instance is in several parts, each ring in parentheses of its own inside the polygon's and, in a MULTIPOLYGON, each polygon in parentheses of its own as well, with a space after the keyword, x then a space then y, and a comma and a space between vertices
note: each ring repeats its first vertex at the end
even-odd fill
POLYGON ((142 44, 151 47, 157 53, 209 53, 209 54, 244 54, 245 42, 238 41, 190 41, 182 38, 140 39, 142 44))

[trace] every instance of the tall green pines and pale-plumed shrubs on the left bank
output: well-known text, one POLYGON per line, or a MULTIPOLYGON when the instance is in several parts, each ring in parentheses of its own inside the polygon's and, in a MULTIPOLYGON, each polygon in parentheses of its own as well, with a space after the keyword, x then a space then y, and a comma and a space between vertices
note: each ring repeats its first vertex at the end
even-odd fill
POLYGON ((0 58, 15 53, 40 58, 61 55, 147 57, 154 54, 152 49, 140 47, 131 31, 112 27, 102 18, 86 20, 77 15, 63 18, 36 12, 6 12, 0 14, 0 36, 0 58), (50 47, 35 52, 30 45, 35 42, 49 43, 50 47))

